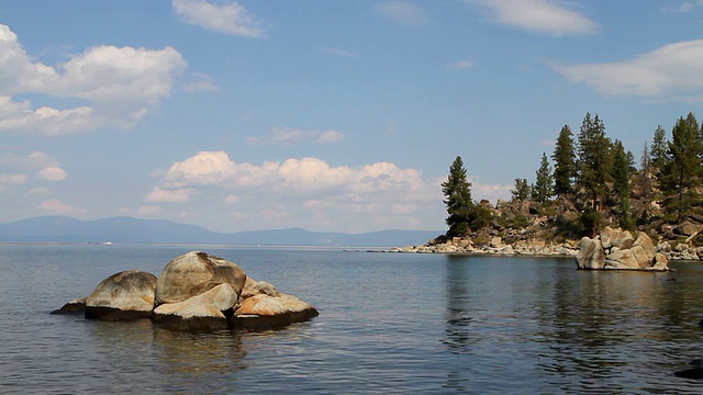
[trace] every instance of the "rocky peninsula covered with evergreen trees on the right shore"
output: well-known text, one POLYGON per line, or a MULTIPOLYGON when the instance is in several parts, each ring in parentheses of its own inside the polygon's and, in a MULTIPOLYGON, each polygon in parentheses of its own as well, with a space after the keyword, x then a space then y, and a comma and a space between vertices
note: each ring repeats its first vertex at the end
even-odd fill
MULTIPOLYGON (((689 113, 659 125, 640 160, 587 113, 542 155, 534 182, 515 179, 510 201, 475 201, 457 156, 442 184, 444 235, 393 251, 574 256, 583 237, 646 234, 669 259, 703 259, 703 125, 689 113), (549 160, 551 159, 551 160, 549 160)), ((637 236, 635 236, 636 238, 637 236)))

